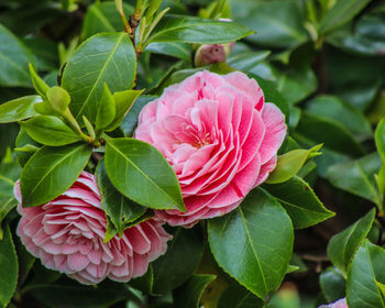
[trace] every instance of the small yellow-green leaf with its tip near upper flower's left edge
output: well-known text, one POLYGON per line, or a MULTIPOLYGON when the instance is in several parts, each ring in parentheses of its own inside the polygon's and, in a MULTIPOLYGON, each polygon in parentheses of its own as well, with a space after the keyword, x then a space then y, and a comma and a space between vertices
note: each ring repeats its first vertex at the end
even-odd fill
POLYGON ((132 105, 136 101, 136 99, 143 91, 144 90, 125 90, 113 94, 116 116, 113 121, 106 129, 107 131, 113 131, 121 124, 121 122, 130 111, 132 105))

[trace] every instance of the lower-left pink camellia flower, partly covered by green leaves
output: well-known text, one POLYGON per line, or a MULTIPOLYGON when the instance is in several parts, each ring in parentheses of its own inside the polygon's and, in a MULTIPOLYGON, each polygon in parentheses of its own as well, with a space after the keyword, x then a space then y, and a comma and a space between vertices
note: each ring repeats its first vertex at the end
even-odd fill
POLYGON ((172 238, 161 222, 147 220, 103 243, 106 215, 96 178, 86 172, 62 196, 38 207, 22 208, 19 182, 14 195, 22 216, 18 234, 26 250, 46 267, 82 284, 144 275, 148 262, 165 253, 172 238))

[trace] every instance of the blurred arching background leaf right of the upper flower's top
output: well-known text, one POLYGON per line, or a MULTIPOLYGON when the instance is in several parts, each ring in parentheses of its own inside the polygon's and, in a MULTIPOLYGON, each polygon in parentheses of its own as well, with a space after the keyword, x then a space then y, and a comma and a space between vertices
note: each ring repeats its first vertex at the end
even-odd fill
POLYGON ((308 114, 332 119, 354 134, 356 138, 372 135, 372 128, 364 114, 333 96, 320 96, 310 100, 306 106, 308 114), (341 117, 343 114, 343 117, 341 117))

